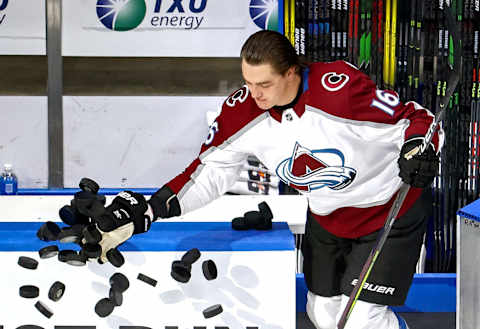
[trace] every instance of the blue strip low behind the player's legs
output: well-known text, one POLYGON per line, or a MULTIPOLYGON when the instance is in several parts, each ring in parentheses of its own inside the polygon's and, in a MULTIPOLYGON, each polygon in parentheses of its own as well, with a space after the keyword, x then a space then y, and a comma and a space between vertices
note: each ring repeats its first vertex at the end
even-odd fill
MULTIPOLYGON (((305 312, 307 286, 303 273, 297 274, 297 312, 305 312)), ((415 274, 407 300, 403 306, 394 306, 395 312, 455 312, 456 274, 415 274)))

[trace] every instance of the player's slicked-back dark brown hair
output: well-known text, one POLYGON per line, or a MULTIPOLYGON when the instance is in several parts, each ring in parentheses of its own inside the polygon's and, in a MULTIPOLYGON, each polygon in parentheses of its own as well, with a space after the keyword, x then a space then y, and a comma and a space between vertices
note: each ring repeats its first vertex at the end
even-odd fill
POLYGON ((296 66, 298 73, 301 68, 295 48, 283 34, 275 31, 252 34, 243 44, 240 57, 250 65, 270 64, 281 75, 292 66, 296 66))

